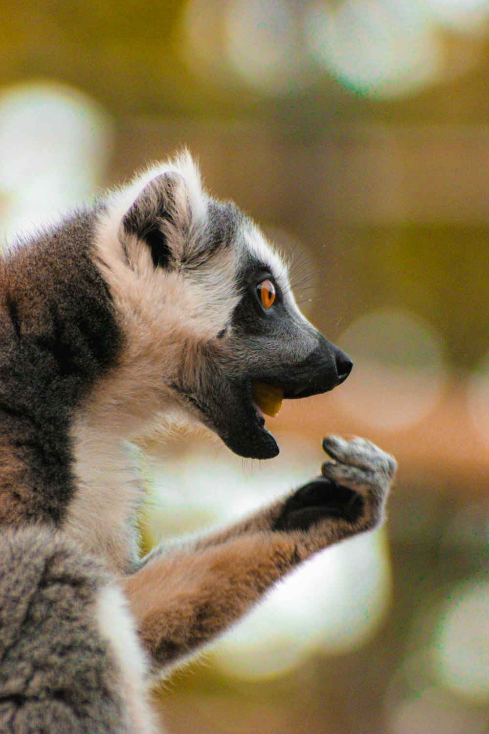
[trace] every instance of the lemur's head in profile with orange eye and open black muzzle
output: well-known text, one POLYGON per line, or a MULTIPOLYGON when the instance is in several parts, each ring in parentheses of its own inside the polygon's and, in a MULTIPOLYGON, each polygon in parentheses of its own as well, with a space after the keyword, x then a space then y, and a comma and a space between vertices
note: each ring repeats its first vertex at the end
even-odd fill
POLYGON ((183 408, 236 454, 279 453, 254 386, 296 399, 350 374, 348 355, 298 310, 260 230, 202 191, 188 154, 111 197, 98 244, 139 399, 183 408))

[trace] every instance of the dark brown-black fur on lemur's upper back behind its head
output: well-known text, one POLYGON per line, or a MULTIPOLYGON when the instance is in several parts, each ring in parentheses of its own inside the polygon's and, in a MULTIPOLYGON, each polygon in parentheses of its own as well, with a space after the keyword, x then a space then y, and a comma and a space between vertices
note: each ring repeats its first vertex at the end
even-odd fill
POLYGON ((62 522, 73 411, 122 346, 93 261, 97 214, 73 214, 0 260, 0 523, 62 522))

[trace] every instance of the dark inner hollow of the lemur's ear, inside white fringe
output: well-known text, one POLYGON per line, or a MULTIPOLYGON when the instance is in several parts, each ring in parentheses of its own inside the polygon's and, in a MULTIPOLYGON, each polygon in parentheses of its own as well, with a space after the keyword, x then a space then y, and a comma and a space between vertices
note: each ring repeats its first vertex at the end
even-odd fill
POLYGON ((185 178, 169 170, 147 183, 122 218, 122 228, 150 248, 155 267, 171 264, 177 244, 192 221, 191 200, 185 178))

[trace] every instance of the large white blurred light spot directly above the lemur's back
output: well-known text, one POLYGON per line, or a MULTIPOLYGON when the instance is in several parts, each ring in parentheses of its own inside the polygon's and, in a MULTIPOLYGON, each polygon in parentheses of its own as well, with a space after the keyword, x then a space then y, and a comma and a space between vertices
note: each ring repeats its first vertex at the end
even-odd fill
POLYGON ((51 81, 0 95, 2 226, 26 230, 92 195, 111 153, 108 115, 82 92, 51 81))

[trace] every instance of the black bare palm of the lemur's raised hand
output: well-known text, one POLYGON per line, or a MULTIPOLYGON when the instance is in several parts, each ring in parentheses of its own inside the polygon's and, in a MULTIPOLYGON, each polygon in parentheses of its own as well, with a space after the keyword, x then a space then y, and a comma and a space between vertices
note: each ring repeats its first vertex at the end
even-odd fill
POLYGON ((320 476, 287 499, 273 530, 309 530, 327 517, 342 517, 350 523, 361 517, 364 500, 359 493, 320 476))

